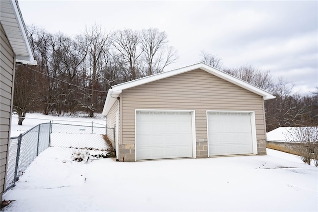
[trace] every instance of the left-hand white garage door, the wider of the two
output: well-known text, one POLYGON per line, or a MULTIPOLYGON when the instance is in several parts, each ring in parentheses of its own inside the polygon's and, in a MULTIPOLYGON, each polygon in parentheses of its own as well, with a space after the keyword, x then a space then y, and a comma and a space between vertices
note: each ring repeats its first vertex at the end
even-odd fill
POLYGON ((137 160, 192 157, 191 112, 137 111, 137 160))

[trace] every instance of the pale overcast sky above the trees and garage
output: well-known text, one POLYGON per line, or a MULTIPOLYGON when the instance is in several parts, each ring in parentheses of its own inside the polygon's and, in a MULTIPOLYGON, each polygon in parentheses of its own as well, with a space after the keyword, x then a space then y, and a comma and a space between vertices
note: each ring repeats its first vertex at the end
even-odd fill
POLYGON ((156 27, 179 59, 166 70, 218 55, 227 68, 251 64, 285 78, 295 91, 318 86, 318 1, 18 0, 26 25, 77 35, 85 26, 106 30, 156 27))

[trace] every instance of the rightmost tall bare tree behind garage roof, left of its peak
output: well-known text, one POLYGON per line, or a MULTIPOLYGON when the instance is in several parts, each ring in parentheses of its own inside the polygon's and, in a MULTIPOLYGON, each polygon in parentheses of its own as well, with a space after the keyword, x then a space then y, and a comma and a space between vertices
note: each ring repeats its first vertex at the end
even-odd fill
POLYGON ((166 33, 157 28, 143 29, 141 47, 145 62, 144 76, 157 74, 177 60, 176 50, 168 46, 166 33))

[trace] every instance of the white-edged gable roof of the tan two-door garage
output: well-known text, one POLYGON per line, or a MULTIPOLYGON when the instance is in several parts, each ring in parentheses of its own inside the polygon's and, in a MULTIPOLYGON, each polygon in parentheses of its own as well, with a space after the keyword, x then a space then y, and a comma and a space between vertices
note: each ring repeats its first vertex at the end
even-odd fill
POLYGON ((161 80, 161 79, 164 79, 164 78, 167 78, 167 77, 171 77, 171 76, 175 76, 175 75, 178 75, 178 74, 182 74, 182 73, 185 73, 185 72, 189 72, 189 71, 193 71, 193 70, 196 70, 196 69, 201 69, 201 70, 204 70, 214 76, 217 76, 223 80, 226 80, 230 83, 233 83, 243 89, 246 89, 254 94, 257 94, 259 96, 262 96, 264 100, 271 100, 271 99, 275 99, 275 97, 263 90, 263 89, 260 89, 250 83, 247 83, 237 77, 234 77, 224 71, 221 71, 219 69, 216 69, 212 66, 209 66, 203 62, 200 62, 200 63, 196 63, 196 64, 193 64, 193 65, 189 65, 189 66, 185 66, 185 67, 182 67, 182 68, 178 68, 178 69, 174 69, 174 70, 170 70, 170 71, 166 71, 166 72, 162 72, 162 73, 159 73, 159 74, 154 74, 154 75, 151 75, 151 76, 147 76, 147 77, 143 77, 143 78, 140 78, 140 79, 136 79, 136 80, 132 80, 132 81, 129 81, 129 82, 125 82, 125 83, 121 83, 121 84, 118 84, 118 85, 115 85, 115 86, 112 86, 109 90, 108 90, 108 93, 107 93, 107 97, 106 97, 106 102, 105 102, 105 105, 104 105, 104 109, 103 109, 103 115, 106 115, 108 113, 108 111, 110 110, 111 106, 113 106, 113 104, 115 103, 116 101, 116 98, 119 97, 119 95, 121 94, 121 92, 125 89, 129 89, 129 88, 133 88, 133 87, 136 87, 136 86, 140 86, 140 85, 144 85, 146 83, 150 83, 150 82, 154 82, 154 81, 157 81, 157 80, 161 80))

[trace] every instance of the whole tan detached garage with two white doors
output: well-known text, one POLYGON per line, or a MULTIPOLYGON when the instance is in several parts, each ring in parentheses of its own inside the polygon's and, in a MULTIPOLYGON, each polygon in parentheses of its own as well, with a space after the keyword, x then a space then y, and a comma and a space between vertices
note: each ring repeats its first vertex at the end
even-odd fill
POLYGON ((274 98, 198 63, 112 86, 103 115, 119 161, 266 154, 274 98))

